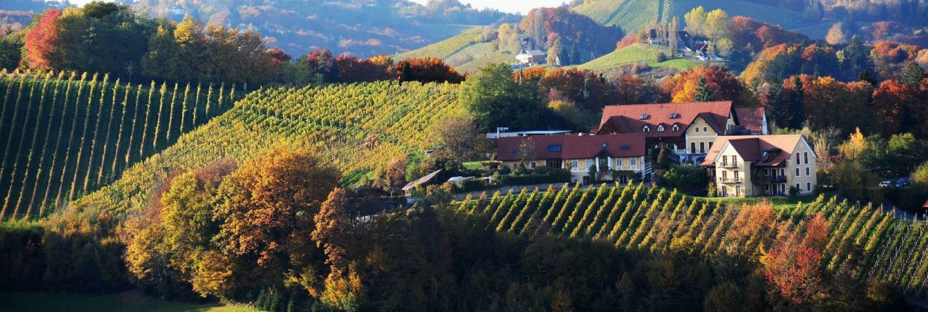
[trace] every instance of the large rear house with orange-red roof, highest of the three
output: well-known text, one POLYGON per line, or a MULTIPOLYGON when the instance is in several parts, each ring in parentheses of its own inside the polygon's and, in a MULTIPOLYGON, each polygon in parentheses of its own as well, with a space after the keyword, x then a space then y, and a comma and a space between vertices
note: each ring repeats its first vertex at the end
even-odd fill
POLYGON ((701 163, 720 135, 768 134, 764 107, 732 108, 731 101, 606 106, 596 133, 643 133, 647 146, 691 164, 701 163))

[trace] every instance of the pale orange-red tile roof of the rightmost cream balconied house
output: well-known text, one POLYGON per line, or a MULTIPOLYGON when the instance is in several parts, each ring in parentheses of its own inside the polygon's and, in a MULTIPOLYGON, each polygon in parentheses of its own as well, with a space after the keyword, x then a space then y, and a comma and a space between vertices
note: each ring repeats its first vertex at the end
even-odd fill
POLYGON ((803 140, 803 136, 799 134, 719 136, 715 138, 715 143, 705 156, 702 166, 715 166, 715 156, 722 151, 726 143, 730 143, 743 160, 755 161, 754 166, 780 166, 783 160, 793 155, 793 150, 800 140, 803 140), (767 159, 767 153, 775 154, 767 159))

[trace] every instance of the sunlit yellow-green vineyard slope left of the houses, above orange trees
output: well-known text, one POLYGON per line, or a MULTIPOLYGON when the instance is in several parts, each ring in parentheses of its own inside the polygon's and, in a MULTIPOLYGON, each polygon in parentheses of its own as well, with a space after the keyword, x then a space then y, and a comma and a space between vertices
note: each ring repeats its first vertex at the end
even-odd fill
POLYGON ((173 170, 225 158, 246 161, 281 145, 307 148, 345 175, 367 171, 421 154, 430 127, 461 110, 454 84, 380 81, 263 89, 74 205, 119 212, 140 208, 173 170))

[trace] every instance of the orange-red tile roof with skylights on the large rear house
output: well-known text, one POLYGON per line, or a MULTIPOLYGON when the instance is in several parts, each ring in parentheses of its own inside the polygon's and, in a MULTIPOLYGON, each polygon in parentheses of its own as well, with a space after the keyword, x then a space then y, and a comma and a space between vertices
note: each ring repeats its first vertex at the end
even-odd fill
POLYGON ((700 116, 716 133, 725 133, 725 124, 730 115, 731 101, 606 106, 602 110, 598 133, 638 133, 644 132, 644 126, 647 125, 651 130, 644 132, 647 137, 681 136, 693 120, 700 116), (671 114, 677 114, 678 118, 672 119, 671 114), (648 115, 649 118, 640 119, 641 115, 648 115), (673 131, 672 127, 664 127, 663 132, 657 131, 661 123, 678 123, 680 129, 673 131))

